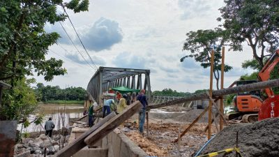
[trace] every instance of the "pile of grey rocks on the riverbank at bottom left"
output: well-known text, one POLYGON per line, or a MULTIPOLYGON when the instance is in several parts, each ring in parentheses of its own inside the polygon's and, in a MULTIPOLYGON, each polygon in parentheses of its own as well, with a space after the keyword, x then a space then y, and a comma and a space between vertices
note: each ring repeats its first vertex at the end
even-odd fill
MULTIPOLYGON (((68 139, 68 136, 66 136, 66 139, 68 139)), ((63 141, 62 135, 53 135, 51 138, 41 134, 37 138, 24 138, 22 139, 22 143, 15 145, 15 157, 40 157, 45 153, 47 155, 55 154, 56 151, 59 151, 59 143, 61 143, 61 141, 63 141)))

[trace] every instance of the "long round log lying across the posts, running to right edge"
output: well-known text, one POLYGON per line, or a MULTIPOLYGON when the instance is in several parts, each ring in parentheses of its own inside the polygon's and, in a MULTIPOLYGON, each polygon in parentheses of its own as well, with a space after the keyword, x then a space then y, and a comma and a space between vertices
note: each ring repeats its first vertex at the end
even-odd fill
MULTIPOLYGON (((227 94, 236 94, 236 93, 244 92, 244 91, 255 91, 255 90, 265 89, 265 88, 270 88, 270 87, 279 87, 279 79, 269 80, 269 81, 264 81, 264 82, 257 82, 257 83, 253 83, 253 84, 245 84, 245 85, 238 86, 238 87, 232 87, 232 88, 212 91, 212 98, 218 98, 219 96, 224 96, 227 94)), ((151 110, 151 109, 155 109, 155 108, 176 105, 176 104, 183 103, 186 101, 201 100, 203 98, 209 98, 209 97, 207 96, 206 93, 194 94, 191 96, 186 96, 186 97, 178 98, 175 100, 169 100, 167 102, 159 103, 156 105, 149 105, 146 107, 146 109, 151 110)))

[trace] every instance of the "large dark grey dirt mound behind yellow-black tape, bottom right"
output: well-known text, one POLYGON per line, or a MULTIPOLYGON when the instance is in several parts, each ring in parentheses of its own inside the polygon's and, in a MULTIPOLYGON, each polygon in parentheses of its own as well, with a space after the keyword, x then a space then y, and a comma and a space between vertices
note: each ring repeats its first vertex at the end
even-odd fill
MULTIPOLYGON (((239 131, 239 149, 243 157, 278 157, 279 154, 279 118, 257 121, 254 124, 236 124, 222 130, 202 151, 213 151, 236 146, 236 132, 239 131)), ((219 156, 223 156, 219 155, 219 156)), ((225 156, 236 156, 235 153, 225 156)))

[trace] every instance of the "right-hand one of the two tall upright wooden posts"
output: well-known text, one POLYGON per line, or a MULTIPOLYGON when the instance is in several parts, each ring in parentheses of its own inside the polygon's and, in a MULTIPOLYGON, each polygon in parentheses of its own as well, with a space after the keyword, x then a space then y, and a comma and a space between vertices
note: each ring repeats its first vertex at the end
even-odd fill
MULTIPOLYGON (((224 70, 225 70, 225 47, 222 47, 222 64, 221 64, 221 89, 224 89, 224 70)), ((222 117, 224 114, 223 96, 220 99, 220 130, 223 130, 222 117)))

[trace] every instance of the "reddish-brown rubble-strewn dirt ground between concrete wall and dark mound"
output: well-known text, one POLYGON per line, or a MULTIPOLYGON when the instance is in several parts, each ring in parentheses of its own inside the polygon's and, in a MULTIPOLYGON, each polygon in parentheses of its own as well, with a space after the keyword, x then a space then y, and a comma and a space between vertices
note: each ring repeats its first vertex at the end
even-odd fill
MULTIPOLYGON (((140 134, 137 125, 133 124, 133 121, 137 121, 136 115, 129 120, 129 124, 126 123, 119 128, 149 156, 191 156, 207 141, 207 134, 204 132, 207 124, 200 122, 195 124, 186 135, 181 137, 179 144, 174 143, 174 140, 178 138, 179 130, 182 133, 200 112, 202 110, 191 110, 179 114, 176 112, 161 112, 160 114, 151 112, 149 113, 151 117, 149 119, 149 136, 146 133, 146 124, 144 135, 140 134)), ((207 119, 201 121, 205 120, 207 119)), ((212 133, 216 133, 215 126, 212 126, 212 133)))

